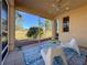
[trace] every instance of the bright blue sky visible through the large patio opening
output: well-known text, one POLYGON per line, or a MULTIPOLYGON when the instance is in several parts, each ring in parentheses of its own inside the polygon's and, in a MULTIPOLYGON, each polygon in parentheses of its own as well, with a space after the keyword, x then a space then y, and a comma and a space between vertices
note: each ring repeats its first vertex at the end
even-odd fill
MULTIPOLYGON (((37 15, 33 15, 30 13, 25 13, 22 11, 18 11, 21 15, 22 19, 21 20, 15 20, 15 22, 21 23, 23 29, 29 29, 31 26, 39 26, 39 17, 37 15)), ((44 18, 40 18, 41 22, 44 23, 44 18)))

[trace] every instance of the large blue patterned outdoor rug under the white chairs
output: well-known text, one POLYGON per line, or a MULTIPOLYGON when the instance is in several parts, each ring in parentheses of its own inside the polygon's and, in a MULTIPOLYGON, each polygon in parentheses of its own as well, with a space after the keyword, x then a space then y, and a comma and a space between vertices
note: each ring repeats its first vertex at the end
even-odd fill
MULTIPOLYGON (((56 44, 40 44, 29 50, 23 48, 23 56, 25 65, 45 65, 41 55, 42 48, 47 48, 56 44)), ((87 50, 80 48, 80 55, 73 48, 64 47, 64 52, 68 62, 68 65, 85 65, 87 50)), ((64 65, 59 56, 55 56, 53 65, 64 65)))

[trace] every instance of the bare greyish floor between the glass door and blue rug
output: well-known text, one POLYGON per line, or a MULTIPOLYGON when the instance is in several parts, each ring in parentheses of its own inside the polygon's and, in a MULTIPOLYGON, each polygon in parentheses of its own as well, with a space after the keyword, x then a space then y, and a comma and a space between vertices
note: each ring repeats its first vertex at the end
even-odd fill
POLYGON ((14 51, 12 53, 9 53, 4 62, 4 65, 25 65, 22 51, 14 51))

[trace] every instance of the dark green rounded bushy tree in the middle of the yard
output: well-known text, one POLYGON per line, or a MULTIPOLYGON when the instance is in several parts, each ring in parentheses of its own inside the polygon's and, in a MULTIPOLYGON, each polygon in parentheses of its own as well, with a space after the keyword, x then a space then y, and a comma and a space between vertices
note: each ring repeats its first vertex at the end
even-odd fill
POLYGON ((33 39, 36 39, 39 35, 43 35, 43 29, 37 28, 37 26, 30 28, 28 33, 26 33, 28 37, 33 37, 33 39))

